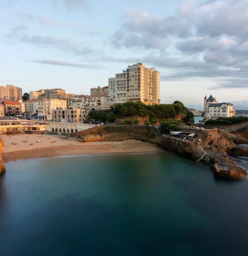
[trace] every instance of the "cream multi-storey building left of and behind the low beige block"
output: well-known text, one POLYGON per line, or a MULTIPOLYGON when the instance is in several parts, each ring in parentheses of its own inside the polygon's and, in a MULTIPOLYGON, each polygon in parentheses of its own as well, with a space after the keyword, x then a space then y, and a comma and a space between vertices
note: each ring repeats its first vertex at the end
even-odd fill
POLYGON ((38 116, 44 116, 45 120, 54 119, 53 109, 67 107, 66 100, 46 98, 43 100, 37 100, 38 116))

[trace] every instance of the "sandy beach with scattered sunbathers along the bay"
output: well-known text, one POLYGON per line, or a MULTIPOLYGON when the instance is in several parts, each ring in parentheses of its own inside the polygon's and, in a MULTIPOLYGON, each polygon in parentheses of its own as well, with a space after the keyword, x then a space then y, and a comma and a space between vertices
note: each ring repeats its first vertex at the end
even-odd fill
POLYGON ((29 158, 48 158, 55 156, 73 156, 82 154, 121 154, 121 153, 149 153, 163 152, 150 143, 138 141, 99 141, 82 143, 74 140, 63 139, 52 135, 20 134, 1 136, 4 140, 4 162, 29 158), (50 138, 50 139, 48 139, 50 138), (22 142, 28 141, 28 142, 22 142), (40 141, 37 143, 37 141, 40 141), (42 141, 42 142, 41 142, 42 141), (52 143, 56 141, 56 143, 52 143), (12 143, 19 143, 13 145, 12 143), (30 145, 33 143, 33 145, 30 145))

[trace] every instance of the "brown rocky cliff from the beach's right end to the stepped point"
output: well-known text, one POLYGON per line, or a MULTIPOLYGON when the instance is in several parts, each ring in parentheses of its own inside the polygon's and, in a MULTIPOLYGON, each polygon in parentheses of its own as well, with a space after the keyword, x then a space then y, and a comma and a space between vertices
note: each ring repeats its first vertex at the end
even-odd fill
POLYGON ((208 155, 207 163, 217 163, 218 166, 224 167, 228 166, 228 170, 220 170, 218 173, 215 173, 217 176, 228 179, 241 179, 247 174, 246 171, 237 166, 230 158, 223 157, 231 152, 231 150, 234 150, 234 148, 237 148, 232 138, 232 134, 220 131, 220 136, 217 138, 205 137, 202 138, 202 142, 194 144, 184 143, 182 141, 170 139, 169 137, 161 137, 152 127, 135 128, 105 126, 83 131, 77 137, 77 140, 91 142, 135 139, 150 142, 158 147, 176 152, 181 156, 186 156, 192 160, 198 160, 202 156, 203 151, 206 150, 208 155), (214 147, 208 149, 209 145, 214 145, 214 147))

